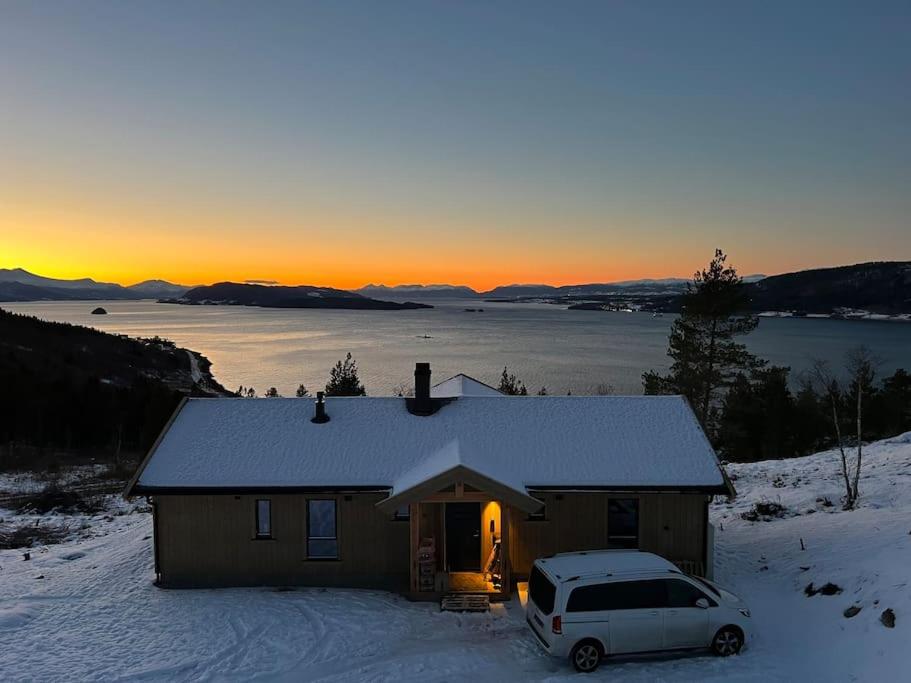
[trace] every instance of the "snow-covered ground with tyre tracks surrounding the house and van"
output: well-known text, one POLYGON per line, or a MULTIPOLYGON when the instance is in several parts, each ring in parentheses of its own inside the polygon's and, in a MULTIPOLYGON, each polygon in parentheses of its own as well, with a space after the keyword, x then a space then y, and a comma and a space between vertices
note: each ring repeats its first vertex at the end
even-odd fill
MULTIPOLYGON (((833 453, 731 466, 740 496, 712 509, 716 578, 750 603, 750 647, 608 661, 586 680, 906 680, 911 433, 866 458, 852 512, 838 506, 833 453), (757 501, 786 516, 742 519, 757 501), (811 581, 844 590, 807 597, 811 581), (851 605, 861 611, 848 619, 851 605)), ((578 680, 540 651, 515 601, 457 615, 372 591, 155 588, 149 515, 119 509, 28 562, 0 551, 0 680, 578 680)))

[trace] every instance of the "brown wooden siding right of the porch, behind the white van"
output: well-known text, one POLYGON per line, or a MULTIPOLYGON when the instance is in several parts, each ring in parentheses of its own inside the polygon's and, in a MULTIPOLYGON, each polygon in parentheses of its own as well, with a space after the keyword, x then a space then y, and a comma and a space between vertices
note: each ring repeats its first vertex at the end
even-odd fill
POLYGON ((544 521, 512 511, 509 553, 513 579, 527 578, 538 557, 606 548, 610 498, 639 499, 640 550, 704 569, 708 500, 704 495, 547 493, 539 497, 546 506, 544 521))

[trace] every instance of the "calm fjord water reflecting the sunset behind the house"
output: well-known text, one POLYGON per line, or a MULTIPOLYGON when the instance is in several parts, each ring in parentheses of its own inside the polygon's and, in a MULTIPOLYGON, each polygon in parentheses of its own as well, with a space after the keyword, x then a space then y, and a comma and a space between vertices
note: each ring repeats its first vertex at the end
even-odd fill
MULTIPOLYGON (((570 311, 550 304, 434 301, 433 309, 349 311, 179 306, 153 301, 66 301, 3 304, 45 320, 88 325, 137 337, 158 335, 199 351, 227 388, 271 386, 293 396, 303 383, 315 392, 329 368, 350 351, 372 395, 410 385, 415 361, 429 361, 433 378, 457 372, 496 385, 503 366, 529 391, 642 393, 641 375, 665 369, 673 316, 570 311), (92 315, 96 306, 108 315, 92 315), (466 308, 484 312, 466 312, 466 308)), ((880 372, 911 370, 911 324, 828 319, 764 318, 747 346, 795 373, 813 358, 841 363, 847 349, 866 344, 880 372)))

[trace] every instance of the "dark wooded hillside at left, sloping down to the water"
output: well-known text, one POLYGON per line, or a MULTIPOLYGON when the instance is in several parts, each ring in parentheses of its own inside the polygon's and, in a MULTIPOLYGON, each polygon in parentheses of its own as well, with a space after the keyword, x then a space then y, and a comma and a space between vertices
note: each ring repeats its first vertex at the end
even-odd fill
POLYGON ((224 395, 209 361, 0 309, 0 463, 22 447, 142 451, 182 395, 224 395))

